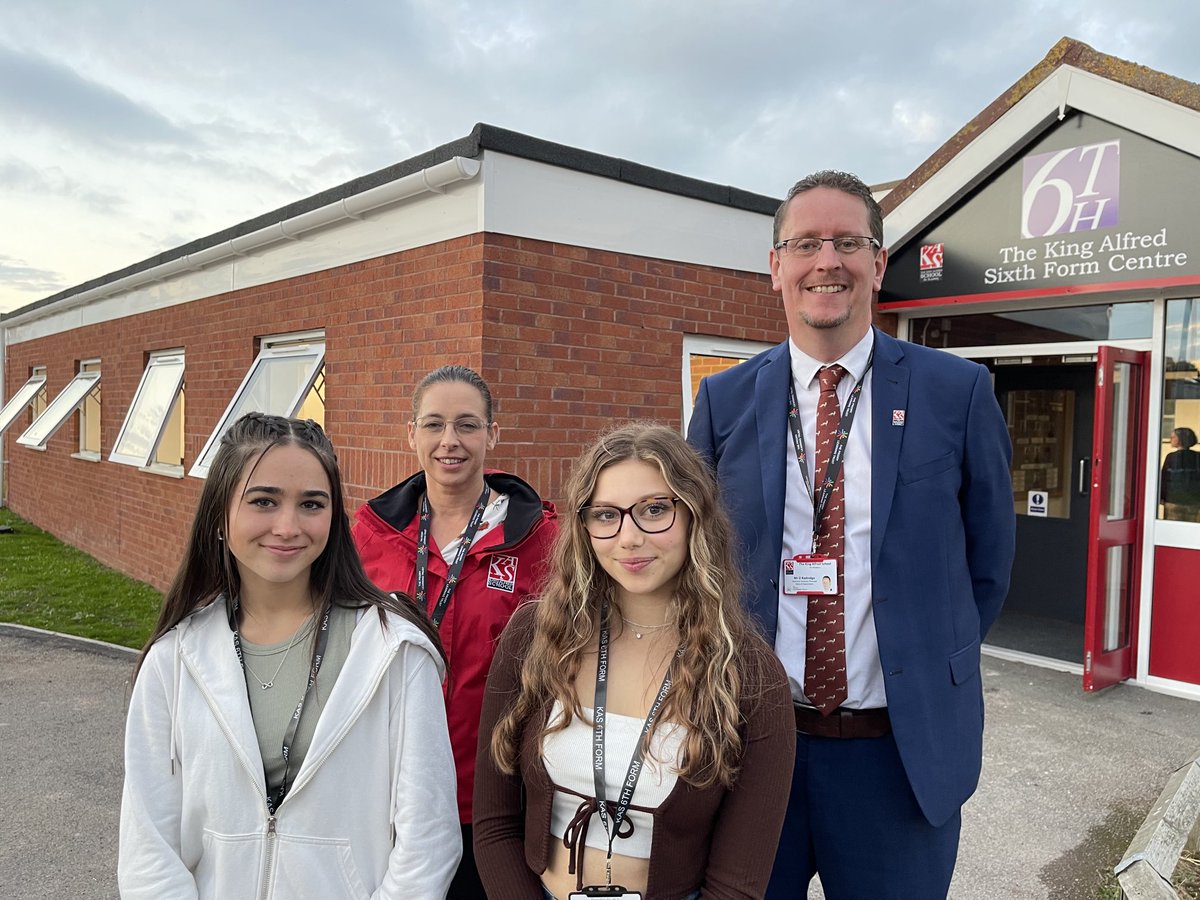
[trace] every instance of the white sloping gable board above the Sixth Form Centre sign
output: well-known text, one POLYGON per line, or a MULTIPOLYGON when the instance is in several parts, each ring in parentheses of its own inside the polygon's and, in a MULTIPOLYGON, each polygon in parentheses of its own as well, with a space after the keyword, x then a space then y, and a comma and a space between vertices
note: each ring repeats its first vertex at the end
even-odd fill
POLYGON ((1108 78, 1061 66, 906 197, 883 220, 883 242, 912 238, 955 199, 1007 161, 1014 148, 1076 109, 1200 156, 1200 113, 1108 78))

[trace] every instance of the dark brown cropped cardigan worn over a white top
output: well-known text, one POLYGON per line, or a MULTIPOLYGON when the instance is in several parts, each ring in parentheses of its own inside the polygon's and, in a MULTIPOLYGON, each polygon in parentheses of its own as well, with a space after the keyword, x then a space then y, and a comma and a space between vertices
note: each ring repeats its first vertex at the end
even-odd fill
MULTIPOLYGON (((550 707, 524 725, 517 774, 497 768, 490 743, 516 697, 535 608, 517 610, 500 636, 479 725, 474 844, 490 900, 541 900, 540 875, 556 839, 550 833, 554 788, 539 743, 550 707)), ((654 810, 647 900, 676 900, 697 888, 702 898, 761 898, 767 889, 791 791, 796 719, 784 667, 766 642, 750 637, 743 660, 737 781, 731 788, 700 790, 679 779, 654 810)))

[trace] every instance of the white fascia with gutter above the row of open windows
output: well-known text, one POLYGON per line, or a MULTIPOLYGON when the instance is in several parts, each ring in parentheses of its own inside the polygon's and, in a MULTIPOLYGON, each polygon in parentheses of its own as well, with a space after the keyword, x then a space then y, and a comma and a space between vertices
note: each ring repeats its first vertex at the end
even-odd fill
POLYGON ((482 228, 476 160, 454 157, 252 234, 7 319, 12 346, 308 275, 482 228))

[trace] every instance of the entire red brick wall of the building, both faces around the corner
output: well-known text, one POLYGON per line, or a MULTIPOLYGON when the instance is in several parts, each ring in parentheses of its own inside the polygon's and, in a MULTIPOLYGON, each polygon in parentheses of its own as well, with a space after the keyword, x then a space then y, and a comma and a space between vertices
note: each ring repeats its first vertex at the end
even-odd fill
POLYGON ((200 481, 109 463, 152 350, 187 360, 190 467, 258 350, 258 337, 324 329, 325 426, 350 509, 412 474, 416 382, 446 362, 490 383, 500 443, 488 464, 559 494, 581 446, 614 422, 678 427, 684 334, 778 341, 766 276, 475 234, 8 348, 11 396, 48 367, 53 397, 80 359, 103 366, 102 462, 72 458, 74 419, 46 452, 5 434, 8 503, 62 540, 163 588, 200 481))

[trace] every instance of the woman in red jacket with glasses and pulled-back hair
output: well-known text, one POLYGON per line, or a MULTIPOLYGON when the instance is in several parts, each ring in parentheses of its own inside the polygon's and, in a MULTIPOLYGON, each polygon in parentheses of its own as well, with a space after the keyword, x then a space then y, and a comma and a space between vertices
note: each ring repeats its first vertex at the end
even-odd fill
POLYGON ((479 374, 430 372, 408 425, 421 470, 362 505, 353 532, 367 575, 416 599, 449 661, 443 688, 464 848, 451 900, 485 898, 469 850, 484 684, 500 631, 538 589, 556 530, 553 504, 516 475, 485 468, 499 433, 479 374))

